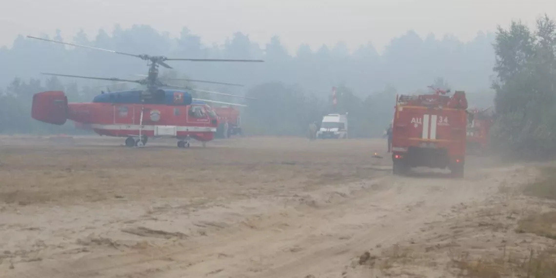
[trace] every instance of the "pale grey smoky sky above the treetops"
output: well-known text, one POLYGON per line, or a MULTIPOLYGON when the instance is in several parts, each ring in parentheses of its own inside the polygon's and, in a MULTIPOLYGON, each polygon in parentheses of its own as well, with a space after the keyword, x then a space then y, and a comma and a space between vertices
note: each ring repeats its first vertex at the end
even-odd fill
POLYGON ((556 0, 17 0, 0 9, 0 45, 57 28, 69 41, 80 29, 94 38, 115 24, 148 24, 172 37, 187 27, 209 45, 240 31, 261 46, 279 36, 290 53, 338 41, 351 51, 371 42, 380 52, 409 29, 469 41, 512 20, 534 26, 544 13, 556 19, 556 0))

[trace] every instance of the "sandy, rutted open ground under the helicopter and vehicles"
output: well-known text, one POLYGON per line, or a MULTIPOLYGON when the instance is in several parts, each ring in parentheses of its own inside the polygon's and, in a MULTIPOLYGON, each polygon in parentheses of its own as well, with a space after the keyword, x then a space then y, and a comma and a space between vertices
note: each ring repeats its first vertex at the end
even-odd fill
POLYGON ((385 143, 0 137, 0 277, 457 277, 550 243, 512 232, 550 206, 532 166, 398 177, 385 143))

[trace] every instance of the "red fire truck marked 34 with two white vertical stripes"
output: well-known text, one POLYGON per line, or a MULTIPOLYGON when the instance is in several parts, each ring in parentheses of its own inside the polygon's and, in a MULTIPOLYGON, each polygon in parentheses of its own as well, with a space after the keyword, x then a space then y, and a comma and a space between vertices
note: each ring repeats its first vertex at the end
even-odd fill
POLYGON ((394 175, 412 167, 449 168, 463 177, 468 122, 464 91, 434 89, 428 95, 396 96, 392 128, 394 175))

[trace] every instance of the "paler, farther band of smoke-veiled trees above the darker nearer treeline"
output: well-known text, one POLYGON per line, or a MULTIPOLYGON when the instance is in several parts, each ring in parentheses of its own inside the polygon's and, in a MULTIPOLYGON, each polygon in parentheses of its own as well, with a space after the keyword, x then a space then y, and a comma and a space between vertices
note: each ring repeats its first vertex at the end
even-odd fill
MULTIPOLYGON (((201 36, 183 28, 177 38, 150 26, 128 29, 115 26, 112 34, 101 29, 96 37, 84 32, 54 37, 29 34, 121 52, 163 55, 177 58, 264 59, 265 63, 180 62, 172 61, 178 72, 200 80, 242 83, 255 86, 281 81, 296 84, 316 95, 327 95, 332 86, 344 83, 356 95, 365 97, 387 86, 399 91, 430 85, 433 78, 443 77, 450 84, 467 91, 490 86, 494 65, 494 33, 478 32, 469 42, 454 36, 422 38, 413 31, 394 37, 382 53, 372 43, 349 51, 345 43, 322 45, 311 49, 306 44, 289 53, 279 37, 269 42, 251 41, 248 34, 236 32, 222 45, 205 45, 201 36)), ((368 34, 361 34, 372 41, 368 34)), ((0 87, 14 77, 28 80, 41 78, 40 72, 69 73, 88 76, 130 78, 146 74, 145 61, 83 48, 29 39, 14 39, 11 48, 0 48, 0 87)), ((80 84, 86 81, 79 81, 80 84)), ((226 88, 232 90, 231 88, 226 88)))

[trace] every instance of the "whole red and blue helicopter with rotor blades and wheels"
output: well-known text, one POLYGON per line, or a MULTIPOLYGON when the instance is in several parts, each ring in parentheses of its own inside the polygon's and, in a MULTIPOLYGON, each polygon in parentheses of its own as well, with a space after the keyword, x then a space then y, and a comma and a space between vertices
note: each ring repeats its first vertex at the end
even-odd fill
MULTIPOLYGON (((214 139, 219 125, 217 115, 205 102, 221 103, 225 105, 245 106, 237 103, 220 102, 193 98, 189 91, 213 93, 217 95, 234 96, 226 93, 197 90, 189 87, 173 86, 158 80, 158 65, 172 68, 165 61, 195 61, 195 62, 264 62, 250 59, 183 59, 167 58, 164 56, 148 56, 146 54, 130 54, 103 48, 82 46, 79 44, 53 41, 50 39, 27 36, 43 41, 67 44, 69 46, 95 49, 99 51, 138 57, 148 61, 148 75, 143 80, 125 80, 121 78, 87 77, 76 75, 59 75, 42 73, 43 75, 88 78, 118 82, 134 82, 146 85, 146 90, 129 90, 121 92, 101 93, 88 103, 68 103, 67 96, 62 91, 46 91, 33 95, 31 116, 38 121, 63 125, 72 120, 80 126, 92 128, 98 135, 126 137, 128 147, 143 147, 149 137, 177 138, 177 146, 187 148, 190 139, 201 141, 203 147, 206 142, 214 139), (167 88, 161 88, 167 87, 167 88), (181 89, 181 90, 180 90, 181 89)), ((174 80, 183 80, 173 78, 174 80)), ((193 82, 217 83, 236 85, 232 83, 187 80, 193 82)), ((242 97, 248 98, 248 97, 242 97)), ((253 98, 251 98, 253 99, 253 98)))

